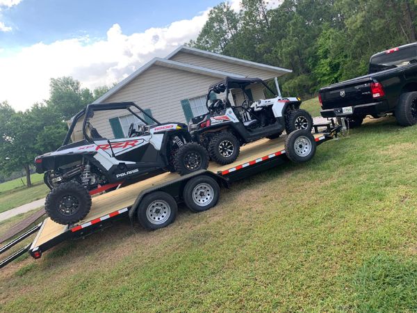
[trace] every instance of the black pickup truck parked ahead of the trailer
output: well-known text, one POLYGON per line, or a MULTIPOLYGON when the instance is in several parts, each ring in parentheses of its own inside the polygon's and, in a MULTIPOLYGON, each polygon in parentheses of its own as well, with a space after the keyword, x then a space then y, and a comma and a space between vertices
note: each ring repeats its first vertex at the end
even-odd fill
POLYGON ((417 42, 374 54, 369 74, 321 88, 323 118, 349 119, 350 127, 393 113, 398 124, 417 123, 417 42))

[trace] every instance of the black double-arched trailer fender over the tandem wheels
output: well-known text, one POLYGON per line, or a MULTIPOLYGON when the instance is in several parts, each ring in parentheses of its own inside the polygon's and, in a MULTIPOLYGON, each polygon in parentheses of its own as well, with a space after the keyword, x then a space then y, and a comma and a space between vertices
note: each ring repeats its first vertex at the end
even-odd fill
POLYGON ((166 182, 164 184, 140 191, 138 198, 136 198, 136 201, 133 203, 131 209, 129 210, 129 218, 131 220, 131 223, 135 222, 137 216, 136 211, 138 210, 140 201, 143 199, 143 197, 145 197, 145 195, 149 195, 149 193, 153 193, 155 191, 163 191, 172 195, 177 202, 182 202, 181 197, 183 193, 183 188, 186 186, 187 182, 193 177, 202 175, 212 177, 213 179, 215 179, 216 182, 218 182, 220 186, 229 188, 228 179, 218 174, 215 174, 214 172, 211 172, 209 170, 197 170, 197 172, 192 172, 187 175, 178 176, 177 179, 174 179, 170 182, 166 182))

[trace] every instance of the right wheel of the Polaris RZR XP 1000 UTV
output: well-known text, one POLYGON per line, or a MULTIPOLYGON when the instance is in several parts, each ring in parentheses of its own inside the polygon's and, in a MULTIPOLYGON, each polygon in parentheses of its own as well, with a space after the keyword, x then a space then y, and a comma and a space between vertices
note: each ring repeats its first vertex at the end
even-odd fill
POLYGON ((208 168, 207 150, 198 143, 182 145, 174 157, 174 168, 179 175, 186 175, 196 170, 208 168))

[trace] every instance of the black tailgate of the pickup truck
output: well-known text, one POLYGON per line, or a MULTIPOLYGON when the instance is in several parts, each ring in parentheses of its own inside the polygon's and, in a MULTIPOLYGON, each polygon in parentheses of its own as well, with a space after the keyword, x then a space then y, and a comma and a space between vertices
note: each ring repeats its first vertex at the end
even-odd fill
POLYGON ((366 76, 320 89, 322 109, 334 109, 373 102, 370 91, 371 82, 372 79, 366 76))

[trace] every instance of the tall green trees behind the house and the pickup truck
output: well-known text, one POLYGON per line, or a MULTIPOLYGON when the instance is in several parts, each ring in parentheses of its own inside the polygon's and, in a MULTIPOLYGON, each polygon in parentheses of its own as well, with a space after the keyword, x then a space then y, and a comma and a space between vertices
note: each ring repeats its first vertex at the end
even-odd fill
POLYGON ((284 95, 309 97, 322 86, 366 74, 371 55, 416 41, 417 0, 243 0, 220 3, 192 47, 293 70, 284 95))

